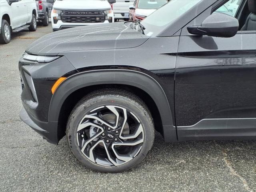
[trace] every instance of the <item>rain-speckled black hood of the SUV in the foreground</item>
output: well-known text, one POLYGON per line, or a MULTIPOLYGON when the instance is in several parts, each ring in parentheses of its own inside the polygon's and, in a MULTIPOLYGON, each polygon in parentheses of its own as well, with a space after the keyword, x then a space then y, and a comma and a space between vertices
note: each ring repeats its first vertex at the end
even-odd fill
POLYGON ((66 51, 133 48, 149 38, 126 25, 116 22, 60 30, 34 41, 26 52, 55 56, 66 51))

